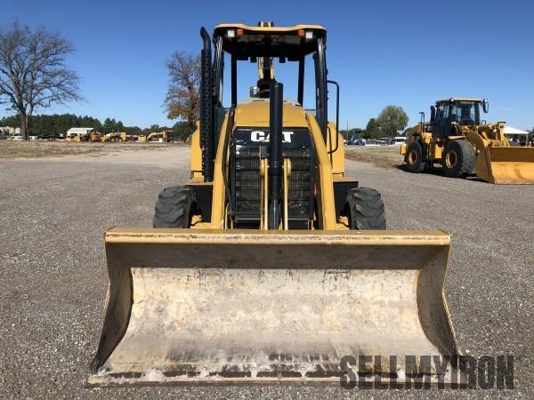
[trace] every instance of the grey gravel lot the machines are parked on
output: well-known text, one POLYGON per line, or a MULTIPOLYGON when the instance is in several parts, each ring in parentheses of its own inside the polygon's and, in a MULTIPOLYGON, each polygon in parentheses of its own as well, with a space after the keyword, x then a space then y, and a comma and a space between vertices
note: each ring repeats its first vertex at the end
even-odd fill
POLYGON ((381 190, 388 228, 452 234, 446 292, 459 348, 473 356, 513 354, 514 390, 85 389, 107 285, 102 233, 150 227, 158 191, 189 175, 189 148, 142 150, 0 160, 0 397, 534 396, 534 186, 412 175, 355 161, 347 162, 347 172, 381 190))

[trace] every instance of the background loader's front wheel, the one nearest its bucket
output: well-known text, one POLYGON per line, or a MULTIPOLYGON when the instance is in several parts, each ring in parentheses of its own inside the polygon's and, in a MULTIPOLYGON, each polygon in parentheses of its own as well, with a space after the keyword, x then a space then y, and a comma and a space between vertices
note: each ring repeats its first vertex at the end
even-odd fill
POLYGON ((443 174, 449 178, 459 178, 473 172, 476 152, 467 140, 450 140, 441 156, 443 174))

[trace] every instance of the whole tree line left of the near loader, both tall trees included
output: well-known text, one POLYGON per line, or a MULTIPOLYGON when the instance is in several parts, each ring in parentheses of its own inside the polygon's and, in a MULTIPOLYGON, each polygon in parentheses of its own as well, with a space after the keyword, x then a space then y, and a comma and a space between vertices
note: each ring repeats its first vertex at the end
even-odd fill
POLYGON ((29 28, 18 22, 0 27, 0 104, 14 113, 1 118, 1 125, 20 128, 25 140, 30 134, 59 136, 72 127, 133 135, 173 129, 182 140, 195 130, 200 63, 198 56, 183 52, 175 52, 166 60, 170 82, 164 107, 169 118, 178 119, 172 128, 153 124, 142 129, 125 126, 115 118, 101 122, 74 114, 36 115, 53 105, 85 101, 79 90, 80 77, 65 62, 74 51, 69 40, 44 27, 29 28))

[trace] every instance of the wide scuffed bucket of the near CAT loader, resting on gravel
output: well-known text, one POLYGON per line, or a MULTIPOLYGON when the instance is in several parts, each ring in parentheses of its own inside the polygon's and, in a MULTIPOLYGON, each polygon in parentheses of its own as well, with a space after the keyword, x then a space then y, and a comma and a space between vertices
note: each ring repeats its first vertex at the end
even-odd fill
POLYGON ((449 244, 442 231, 112 228, 87 385, 339 384, 343 356, 382 356, 375 372, 396 376, 390 356, 457 355, 449 244))

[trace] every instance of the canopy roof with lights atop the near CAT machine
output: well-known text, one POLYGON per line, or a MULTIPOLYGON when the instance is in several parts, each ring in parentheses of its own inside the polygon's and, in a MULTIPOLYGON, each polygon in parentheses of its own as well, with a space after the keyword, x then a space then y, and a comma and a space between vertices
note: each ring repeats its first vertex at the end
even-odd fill
POLYGON ((294 61, 317 50, 317 40, 327 36, 320 25, 294 27, 250 27, 244 24, 222 24, 214 36, 223 36, 223 50, 238 60, 250 57, 285 57, 294 61))

